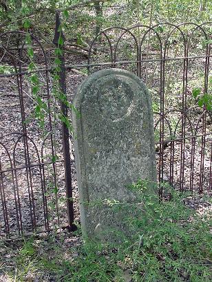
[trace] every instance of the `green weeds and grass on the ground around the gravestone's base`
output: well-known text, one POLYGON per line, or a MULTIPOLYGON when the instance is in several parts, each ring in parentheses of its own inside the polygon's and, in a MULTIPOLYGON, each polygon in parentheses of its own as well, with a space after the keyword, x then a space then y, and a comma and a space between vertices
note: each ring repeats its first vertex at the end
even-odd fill
POLYGON ((211 281, 211 199, 193 209, 184 204, 193 201, 185 193, 171 191, 171 201, 159 202, 146 182, 130 188, 146 211, 127 219, 131 237, 122 244, 83 245, 79 230, 1 243, 0 275, 8 281, 211 281))

